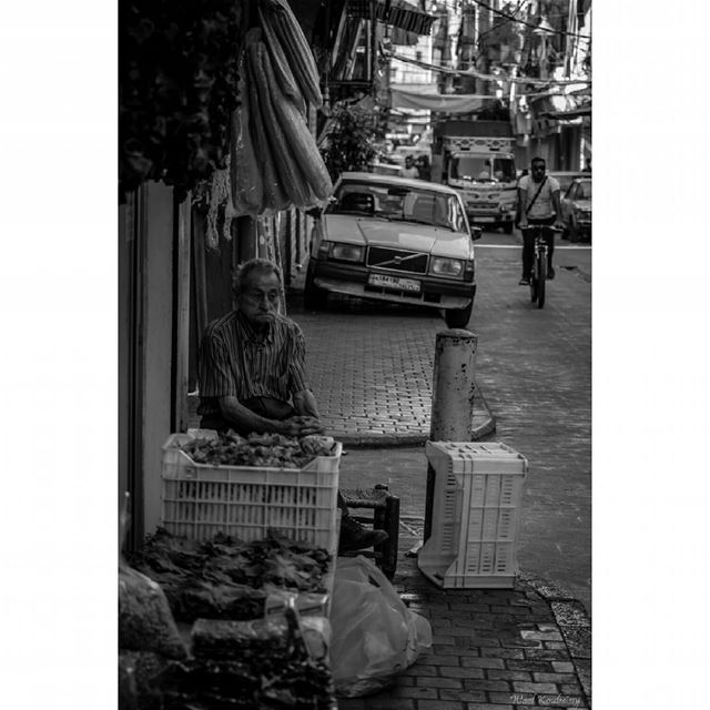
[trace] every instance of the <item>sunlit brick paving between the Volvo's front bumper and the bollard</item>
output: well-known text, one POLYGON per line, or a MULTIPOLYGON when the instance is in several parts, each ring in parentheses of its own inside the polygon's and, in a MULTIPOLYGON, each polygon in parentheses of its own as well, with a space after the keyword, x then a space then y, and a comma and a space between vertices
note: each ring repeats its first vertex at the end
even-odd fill
MULTIPOLYGON (((426 311, 367 304, 288 315, 302 327, 308 374, 328 434, 349 446, 422 444, 430 428, 436 334, 444 321, 426 311), (343 318, 347 327, 342 327, 343 318)), ((474 396, 471 438, 495 428, 483 394, 474 396)))

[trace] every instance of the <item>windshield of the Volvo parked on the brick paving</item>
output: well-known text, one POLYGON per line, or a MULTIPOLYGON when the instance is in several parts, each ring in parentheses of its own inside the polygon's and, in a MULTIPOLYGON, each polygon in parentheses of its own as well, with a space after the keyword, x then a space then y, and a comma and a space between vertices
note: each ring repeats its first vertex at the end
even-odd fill
POLYGON ((466 232, 466 217, 457 195, 426 187, 407 187, 386 182, 343 181, 326 212, 364 214, 392 221, 417 222, 466 232))

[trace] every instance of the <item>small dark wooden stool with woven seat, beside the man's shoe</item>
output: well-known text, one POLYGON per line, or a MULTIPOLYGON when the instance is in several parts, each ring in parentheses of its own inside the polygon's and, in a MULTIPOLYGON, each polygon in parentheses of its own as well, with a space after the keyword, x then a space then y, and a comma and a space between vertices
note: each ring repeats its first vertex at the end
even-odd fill
POLYGON ((399 498, 389 493, 385 484, 376 484, 374 488, 341 488, 341 495, 348 508, 372 509, 373 517, 354 515, 359 523, 372 525, 375 530, 385 530, 389 536, 374 551, 358 550, 345 552, 345 557, 372 557, 387 579, 395 576, 397 569, 397 550, 399 541, 399 498))

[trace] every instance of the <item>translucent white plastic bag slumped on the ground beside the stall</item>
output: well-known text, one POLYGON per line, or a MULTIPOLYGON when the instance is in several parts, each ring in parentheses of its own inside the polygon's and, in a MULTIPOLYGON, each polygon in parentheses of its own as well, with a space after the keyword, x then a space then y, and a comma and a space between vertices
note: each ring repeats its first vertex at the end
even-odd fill
POLYGON ((337 560, 331 627, 333 680, 346 698, 386 688, 432 646, 429 622, 407 609, 365 557, 337 560))

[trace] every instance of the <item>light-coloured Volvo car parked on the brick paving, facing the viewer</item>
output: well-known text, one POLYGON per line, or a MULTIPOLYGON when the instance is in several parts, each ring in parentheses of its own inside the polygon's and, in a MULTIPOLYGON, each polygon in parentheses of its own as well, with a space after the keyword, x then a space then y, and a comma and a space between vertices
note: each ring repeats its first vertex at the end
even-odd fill
POLYGON ((465 327, 476 295, 474 240, 459 194, 420 180, 343 173, 316 219, 305 305, 328 293, 443 310, 465 327))

